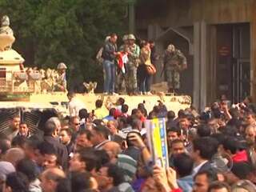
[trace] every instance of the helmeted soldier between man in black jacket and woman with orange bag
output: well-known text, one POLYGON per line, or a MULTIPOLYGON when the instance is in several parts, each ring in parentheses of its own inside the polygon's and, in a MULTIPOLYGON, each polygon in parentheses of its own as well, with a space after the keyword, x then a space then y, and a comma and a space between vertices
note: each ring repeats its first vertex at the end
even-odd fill
POLYGON ((126 92, 127 94, 137 94, 137 67, 140 49, 139 46, 135 44, 134 34, 128 35, 128 63, 126 65, 126 92))

